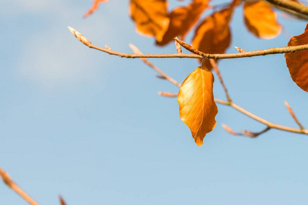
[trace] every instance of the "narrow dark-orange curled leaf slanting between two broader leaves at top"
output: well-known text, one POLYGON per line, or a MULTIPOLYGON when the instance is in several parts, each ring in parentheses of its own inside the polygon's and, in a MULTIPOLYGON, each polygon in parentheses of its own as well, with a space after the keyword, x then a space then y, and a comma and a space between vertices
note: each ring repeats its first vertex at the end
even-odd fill
POLYGON ((169 27, 163 40, 156 42, 156 44, 163 46, 178 36, 180 39, 184 39, 191 27, 196 24, 200 15, 207 8, 208 1, 193 1, 187 7, 179 7, 174 9, 170 14, 169 27))

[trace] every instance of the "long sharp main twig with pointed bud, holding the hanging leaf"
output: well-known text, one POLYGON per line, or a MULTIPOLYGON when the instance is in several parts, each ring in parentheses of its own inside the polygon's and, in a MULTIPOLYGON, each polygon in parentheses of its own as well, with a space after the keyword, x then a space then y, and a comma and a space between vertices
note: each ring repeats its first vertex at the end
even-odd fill
MULTIPOLYGON (((81 33, 76 31, 75 29, 71 27, 69 27, 69 29, 75 35, 75 37, 78 38, 78 40, 80 40, 83 44, 85 44, 89 48, 96 49, 98 51, 103 51, 110 55, 117 55, 119 57, 126 57, 126 58, 145 58, 145 57, 147 58, 174 58, 174 57, 178 57, 178 58, 203 59, 204 57, 206 57, 207 59, 230 59, 230 58, 241 58, 241 57, 254 57, 254 56, 259 56, 259 55, 271 55, 271 54, 279 54, 279 53, 295 53, 296 51, 308 50, 308 44, 303 44, 300 46, 283 46, 283 47, 276 47, 272 49, 264 49, 264 50, 259 50, 259 51, 247 51, 244 53, 211 54, 211 53, 203 53, 196 49, 195 51, 192 51, 192 50, 189 50, 189 51, 191 51, 192 53, 198 53, 198 54, 174 53, 174 54, 141 54, 141 55, 138 55, 138 54, 132 54, 132 53, 121 53, 117 51, 110 51, 109 49, 103 49, 99 46, 95 46, 87 38, 85 38, 81 33)), ((176 41, 182 46, 185 43, 182 40, 176 40, 176 41)))

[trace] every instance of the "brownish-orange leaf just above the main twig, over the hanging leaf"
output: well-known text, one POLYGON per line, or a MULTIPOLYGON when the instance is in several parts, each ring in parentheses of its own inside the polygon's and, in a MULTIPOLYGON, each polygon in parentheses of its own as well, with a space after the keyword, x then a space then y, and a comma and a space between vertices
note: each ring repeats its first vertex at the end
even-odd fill
MULTIPOLYGON (((231 41, 228 24, 232 13, 233 7, 206 17, 196 29, 192 46, 204 53, 224 53, 231 41)), ((209 60, 204 60, 204 65, 211 70, 209 60)))

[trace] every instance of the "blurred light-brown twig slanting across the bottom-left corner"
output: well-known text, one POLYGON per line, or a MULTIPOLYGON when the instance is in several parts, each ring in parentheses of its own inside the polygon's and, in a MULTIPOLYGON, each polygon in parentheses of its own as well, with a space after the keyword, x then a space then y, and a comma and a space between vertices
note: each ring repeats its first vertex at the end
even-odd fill
POLYGON ((10 176, 0 168, 0 176, 5 184, 8 185, 12 190, 14 190, 18 195, 23 197, 31 205, 38 205, 36 201, 32 199, 23 189, 21 189, 11 178, 10 176))

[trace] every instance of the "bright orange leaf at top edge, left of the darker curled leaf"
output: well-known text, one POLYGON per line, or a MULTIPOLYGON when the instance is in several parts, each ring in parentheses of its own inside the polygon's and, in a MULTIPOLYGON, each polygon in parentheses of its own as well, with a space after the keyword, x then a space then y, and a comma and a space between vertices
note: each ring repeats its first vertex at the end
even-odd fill
POLYGON ((136 23, 137 31, 154 36, 158 42, 168 29, 169 17, 165 0, 131 0, 130 16, 136 23))

